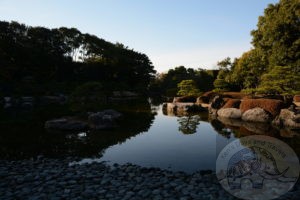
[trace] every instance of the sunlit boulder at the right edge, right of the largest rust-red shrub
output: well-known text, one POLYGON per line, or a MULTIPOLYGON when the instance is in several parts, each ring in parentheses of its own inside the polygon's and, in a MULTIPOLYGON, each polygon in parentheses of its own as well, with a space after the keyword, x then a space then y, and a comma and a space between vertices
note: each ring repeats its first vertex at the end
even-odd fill
POLYGON ((273 123, 280 127, 300 128, 300 113, 298 110, 282 109, 273 123))

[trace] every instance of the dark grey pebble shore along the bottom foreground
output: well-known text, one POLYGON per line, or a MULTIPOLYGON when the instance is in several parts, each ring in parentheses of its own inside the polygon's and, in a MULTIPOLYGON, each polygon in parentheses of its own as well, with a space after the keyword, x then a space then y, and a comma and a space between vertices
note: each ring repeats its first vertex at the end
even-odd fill
MULTIPOLYGON (((68 159, 0 160, 0 199, 236 199, 215 173, 68 159)), ((282 199, 297 199, 299 185, 282 199)))

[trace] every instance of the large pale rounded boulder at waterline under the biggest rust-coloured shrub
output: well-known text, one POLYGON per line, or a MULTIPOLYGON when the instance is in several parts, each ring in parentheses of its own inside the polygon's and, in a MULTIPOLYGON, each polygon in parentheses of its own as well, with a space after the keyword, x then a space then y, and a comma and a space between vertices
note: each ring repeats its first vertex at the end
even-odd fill
POLYGON ((247 122, 270 122, 272 115, 262 108, 253 108, 242 114, 242 120, 247 122))

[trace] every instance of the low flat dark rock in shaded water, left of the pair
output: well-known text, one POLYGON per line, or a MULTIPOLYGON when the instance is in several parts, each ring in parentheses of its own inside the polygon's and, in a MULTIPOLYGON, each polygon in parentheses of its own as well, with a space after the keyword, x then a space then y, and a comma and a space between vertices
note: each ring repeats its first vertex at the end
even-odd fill
POLYGON ((74 120, 74 119, 54 119, 46 121, 46 129, 54 129, 61 131, 81 131, 87 129, 88 124, 86 122, 74 120))

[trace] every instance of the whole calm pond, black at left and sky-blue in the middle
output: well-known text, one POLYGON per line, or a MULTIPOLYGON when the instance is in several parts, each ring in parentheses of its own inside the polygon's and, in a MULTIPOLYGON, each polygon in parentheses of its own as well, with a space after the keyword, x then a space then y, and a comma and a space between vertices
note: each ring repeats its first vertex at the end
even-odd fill
MULTIPOLYGON (((211 119, 207 112, 175 116, 162 105, 148 102, 116 107, 124 113, 114 130, 79 133, 49 132, 47 119, 57 118, 65 108, 29 112, 29 121, 0 123, 0 156, 5 159, 76 156, 79 162, 133 163, 188 173, 215 170, 219 152, 231 141, 259 134, 279 138, 299 155, 299 132, 278 130, 266 124, 241 125, 211 119), (58 112, 59 111, 59 112, 58 112), (261 133, 263 131, 263 133, 261 133)), ((66 109, 67 110, 67 109, 66 109)), ((12 119, 16 117, 11 116, 12 119)))

